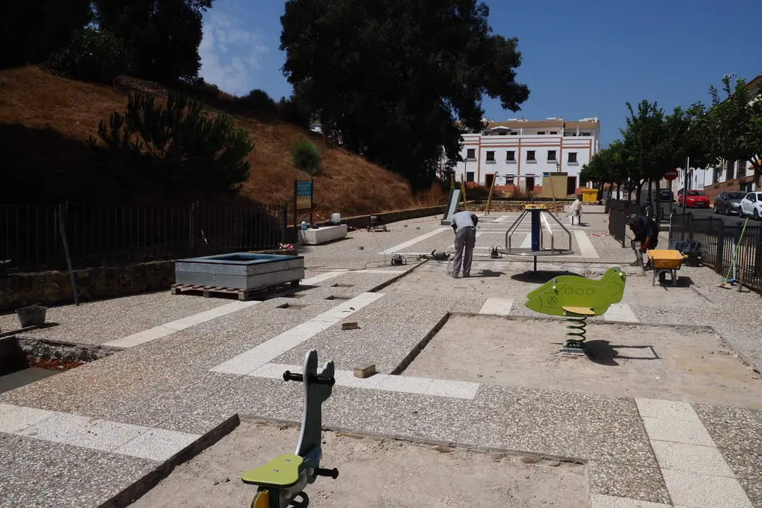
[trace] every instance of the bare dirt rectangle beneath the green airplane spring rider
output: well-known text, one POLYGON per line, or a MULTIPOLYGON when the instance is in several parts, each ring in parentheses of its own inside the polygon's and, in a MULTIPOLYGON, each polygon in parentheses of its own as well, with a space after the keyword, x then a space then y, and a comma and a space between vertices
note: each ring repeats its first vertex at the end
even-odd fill
POLYGON ((712 332, 588 324, 591 358, 564 340, 564 321, 454 316, 405 375, 762 409, 760 375, 712 332))

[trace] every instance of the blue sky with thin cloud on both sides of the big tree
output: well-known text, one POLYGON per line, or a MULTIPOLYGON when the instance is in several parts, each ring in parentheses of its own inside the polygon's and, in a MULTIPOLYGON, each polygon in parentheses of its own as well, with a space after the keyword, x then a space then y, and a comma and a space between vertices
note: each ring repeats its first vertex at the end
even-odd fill
MULTIPOLYGON (((606 145, 620 136, 625 102, 658 101, 665 110, 709 102, 710 84, 762 72, 760 0, 487 0, 496 34, 518 37, 517 80, 531 91, 519 113, 485 101, 507 120, 598 117, 606 145)), ((201 75, 225 91, 291 87, 280 68, 280 0, 215 0, 204 16, 201 75)))

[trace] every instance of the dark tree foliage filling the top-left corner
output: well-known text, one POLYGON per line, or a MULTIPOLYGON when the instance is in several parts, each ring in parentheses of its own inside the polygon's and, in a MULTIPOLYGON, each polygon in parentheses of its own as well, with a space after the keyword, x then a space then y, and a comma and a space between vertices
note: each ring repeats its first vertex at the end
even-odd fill
POLYGON ((90 0, 0 2, 0 69, 43 62, 91 20, 90 0))

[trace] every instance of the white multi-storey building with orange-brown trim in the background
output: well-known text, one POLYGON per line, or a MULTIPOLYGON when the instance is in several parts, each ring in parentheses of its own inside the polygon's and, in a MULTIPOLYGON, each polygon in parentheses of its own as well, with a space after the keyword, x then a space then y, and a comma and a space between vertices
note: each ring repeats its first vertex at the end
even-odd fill
POLYGON ((568 121, 512 119, 485 121, 480 133, 463 134, 455 176, 466 182, 511 190, 535 190, 543 173, 568 174, 569 194, 577 193, 582 166, 600 150, 600 122, 597 117, 568 121))

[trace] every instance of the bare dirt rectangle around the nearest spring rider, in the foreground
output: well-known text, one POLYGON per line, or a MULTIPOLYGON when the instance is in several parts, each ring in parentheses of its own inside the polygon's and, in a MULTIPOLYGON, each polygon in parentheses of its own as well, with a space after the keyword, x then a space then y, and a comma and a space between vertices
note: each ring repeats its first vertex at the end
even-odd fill
MULTIPOLYGON (((176 468, 134 508, 249 506, 256 487, 241 474, 293 453, 298 427, 244 420, 216 445, 176 468)), ((468 452, 342 433, 323 436, 322 467, 339 476, 309 485, 310 508, 369 506, 588 506, 583 465, 468 452)))

